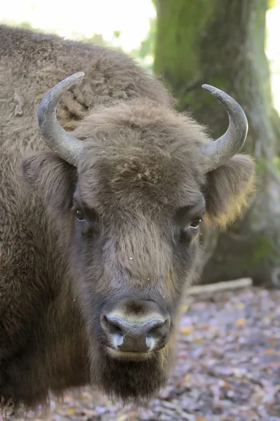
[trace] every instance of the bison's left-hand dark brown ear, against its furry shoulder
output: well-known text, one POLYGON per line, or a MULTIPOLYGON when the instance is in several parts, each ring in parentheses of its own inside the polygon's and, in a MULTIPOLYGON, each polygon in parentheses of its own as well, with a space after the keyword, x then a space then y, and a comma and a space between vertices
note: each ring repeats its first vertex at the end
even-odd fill
POLYGON ((53 152, 34 152, 22 161, 25 179, 42 197, 45 206, 60 213, 72 206, 76 168, 53 152))

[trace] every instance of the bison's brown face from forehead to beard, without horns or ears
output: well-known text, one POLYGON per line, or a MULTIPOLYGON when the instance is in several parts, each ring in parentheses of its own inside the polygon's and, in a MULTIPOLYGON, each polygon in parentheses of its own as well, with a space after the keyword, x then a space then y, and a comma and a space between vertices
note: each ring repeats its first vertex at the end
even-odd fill
POLYGON ((72 262, 94 378, 108 393, 141 398, 167 379, 180 299, 200 256, 202 178, 133 133, 117 146, 108 139, 106 154, 86 142, 78 165, 72 262))

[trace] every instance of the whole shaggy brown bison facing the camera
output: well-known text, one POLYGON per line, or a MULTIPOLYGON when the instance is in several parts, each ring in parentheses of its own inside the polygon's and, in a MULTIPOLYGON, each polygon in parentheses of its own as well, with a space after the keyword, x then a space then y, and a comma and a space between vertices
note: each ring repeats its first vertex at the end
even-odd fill
POLYGON ((0 26, 3 407, 166 384, 200 230, 234 220, 254 180, 243 110, 203 87, 230 118, 214 141, 124 53, 0 26))

